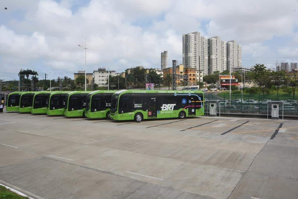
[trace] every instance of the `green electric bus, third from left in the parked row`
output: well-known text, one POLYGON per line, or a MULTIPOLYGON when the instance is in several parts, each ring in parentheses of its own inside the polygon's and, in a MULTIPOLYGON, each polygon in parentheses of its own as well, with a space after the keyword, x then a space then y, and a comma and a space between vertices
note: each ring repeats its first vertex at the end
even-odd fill
POLYGON ((51 91, 40 91, 35 93, 33 97, 33 104, 31 113, 33 114, 46 114, 46 109, 48 107, 49 96, 51 91))

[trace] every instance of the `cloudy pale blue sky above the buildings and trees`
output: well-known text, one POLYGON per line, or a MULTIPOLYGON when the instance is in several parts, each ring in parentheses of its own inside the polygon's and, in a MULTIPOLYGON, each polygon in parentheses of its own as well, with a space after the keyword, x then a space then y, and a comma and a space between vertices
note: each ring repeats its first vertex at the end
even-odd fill
POLYGON ((251 67, 298 61, 298 0, 1 0, 0 79, 30 68, 52 78, 110 67, 160 67, 168 51, 182 62, 182 34, 220 36, 242 45, 251 67), (4 9, 7 7, 7 10, 4 9))

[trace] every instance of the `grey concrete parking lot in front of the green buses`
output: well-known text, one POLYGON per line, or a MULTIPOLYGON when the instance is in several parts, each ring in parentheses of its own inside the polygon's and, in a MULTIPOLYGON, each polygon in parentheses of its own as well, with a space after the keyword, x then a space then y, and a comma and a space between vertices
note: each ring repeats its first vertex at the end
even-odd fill
POLYGON ((297 198, 298 122, 4 113, 0 183, 33 198, 297 198))

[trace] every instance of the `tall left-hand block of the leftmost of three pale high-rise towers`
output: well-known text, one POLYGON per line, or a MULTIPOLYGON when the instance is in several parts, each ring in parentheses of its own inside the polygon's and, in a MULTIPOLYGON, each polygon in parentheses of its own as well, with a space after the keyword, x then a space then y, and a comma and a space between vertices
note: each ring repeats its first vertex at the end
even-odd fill
POLYGON ((201 35, 193 32, 182 35, 182 64, 184 68, 200 68, 201 35))

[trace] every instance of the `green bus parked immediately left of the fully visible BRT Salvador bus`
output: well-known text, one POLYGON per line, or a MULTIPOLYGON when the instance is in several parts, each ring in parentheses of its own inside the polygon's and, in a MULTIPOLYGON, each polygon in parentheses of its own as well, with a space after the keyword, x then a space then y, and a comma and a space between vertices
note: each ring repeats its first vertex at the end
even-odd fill
POLYGON ((89 93, 86 99, 86 118, 111 119, 111 99, 115 91, 97 90, 89 93))

